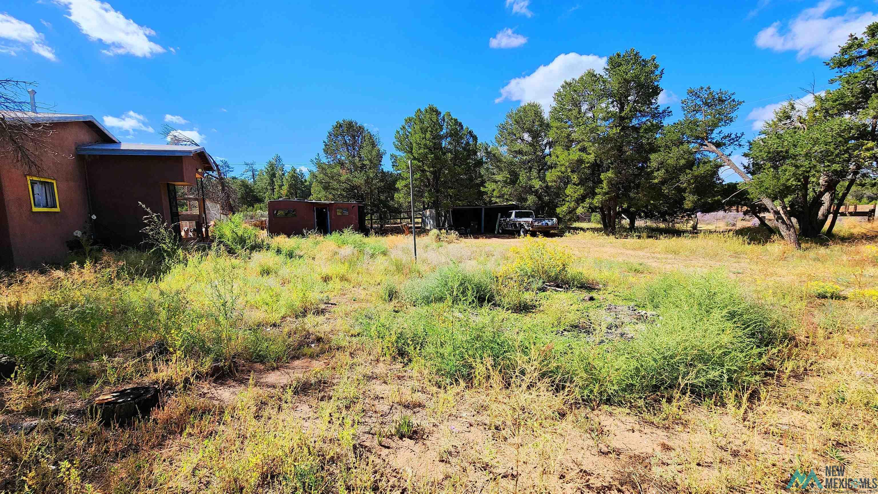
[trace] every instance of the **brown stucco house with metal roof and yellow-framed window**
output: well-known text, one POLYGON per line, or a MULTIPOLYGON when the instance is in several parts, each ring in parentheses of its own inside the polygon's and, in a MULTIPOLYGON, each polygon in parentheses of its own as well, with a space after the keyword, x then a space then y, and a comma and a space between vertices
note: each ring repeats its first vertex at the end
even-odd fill
POLYGON ((176 224, 183 219, 176 186, 195 185, 213 169, 204 147, 123 143, 90 115, 21 111, 0 118, 49 125, 45 147, 54 151, 40 152, 40 168, 31 171, 0 154, 2 268, 65 261, 68 241, 89 224, 102 243, 136 247, 144 216, 138 203, 176 224))

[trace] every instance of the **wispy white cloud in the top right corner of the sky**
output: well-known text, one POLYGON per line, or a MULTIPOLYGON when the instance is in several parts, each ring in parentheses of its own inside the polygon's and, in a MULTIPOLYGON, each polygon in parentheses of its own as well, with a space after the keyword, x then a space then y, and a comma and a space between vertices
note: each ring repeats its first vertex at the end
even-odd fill
POLYGON ((860 12, 854 7, 847 9, 844 15, 824 17, 840 5, 842 3, 838 0, 823 0, 790 20, 783 33, 781 22, 775 22, 759 31, 756 46, 775 52, 796 51, 796 58, 800 61, 810 56, 828 58, 845 44, 848 35, 860 34, 867 25, 878 21, 878 15, 860 12))

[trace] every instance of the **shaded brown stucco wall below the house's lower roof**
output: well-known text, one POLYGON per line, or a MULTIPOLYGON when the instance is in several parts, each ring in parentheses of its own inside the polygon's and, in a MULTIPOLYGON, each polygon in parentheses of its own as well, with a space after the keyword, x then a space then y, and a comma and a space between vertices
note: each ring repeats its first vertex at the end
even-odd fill
POLYGON ((95 236, 113 246, 137 247, 146 214, 140 204, 167 221, 170 207, 168 183, 194 185, 196 170, 203 166, 195 156, 89 156, 87 168, 91 190, 95 236))

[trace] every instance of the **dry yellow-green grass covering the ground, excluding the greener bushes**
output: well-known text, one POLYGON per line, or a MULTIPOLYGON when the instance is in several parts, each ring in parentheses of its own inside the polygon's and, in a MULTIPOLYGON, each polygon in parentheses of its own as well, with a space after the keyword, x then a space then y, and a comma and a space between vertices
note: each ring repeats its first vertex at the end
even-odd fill
POLYGON ((843 463, 848 476, 878 476, 878 306, 860 295, 878 290, 868 237, 793 251, 734 233, 579 233, 551 243, 591 288, 533 294, 524 312, 424 309, 387 295, 437 268, 501 272, 519 239, 423 237, 417 264, 411 239, 399 236, 272 241, 157 276, 120 254, 7 279, 5 331, 13 319, 51 317, 89 338, 65 343, 63 358, 34 358, 39 365, 3 387, 0 456, 11 461, 0 462, 0 490, 775 492, 797 468, 822 476, 843 463), (623 405, 583 401, 547 372, 558 351, 551 339, 514 346, 507 361, 457 362, 466 378, 447 379, 435 365, 455 363, 446 354, 399 358, 363 326, 369 311, 429 313, 424 320, 454 331, 494 320, 521 342, 525 332, 569 331, 609 302, 636 302, 662 276, 715 273, 772 308, 790 340, 757 384, 700 396, 670 388, 623 405), (842 298, 814 297, 815 281, 837 284, 842 298), (113 309, 72 311, 65 297, 113 309), (140 349, 156 339, 172 353, 144 360, 140 349), (237 362, 240 374, 205 376, 217 359, 237 362), (84 417, 90 397, 134 383, 162 389, 151 419, 107 428, 84 417))

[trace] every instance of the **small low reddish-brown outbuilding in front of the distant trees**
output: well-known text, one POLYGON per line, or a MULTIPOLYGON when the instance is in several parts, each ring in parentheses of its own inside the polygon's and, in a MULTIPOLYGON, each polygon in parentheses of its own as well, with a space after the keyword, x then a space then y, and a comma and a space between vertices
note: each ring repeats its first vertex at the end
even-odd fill
POLYGON ((268 233, 272 235, 300 235, 316 230, 333 233, 353 228, 365 230, 366 215, 363 204, 305 199, 277 199, 268 202, 268 233))

